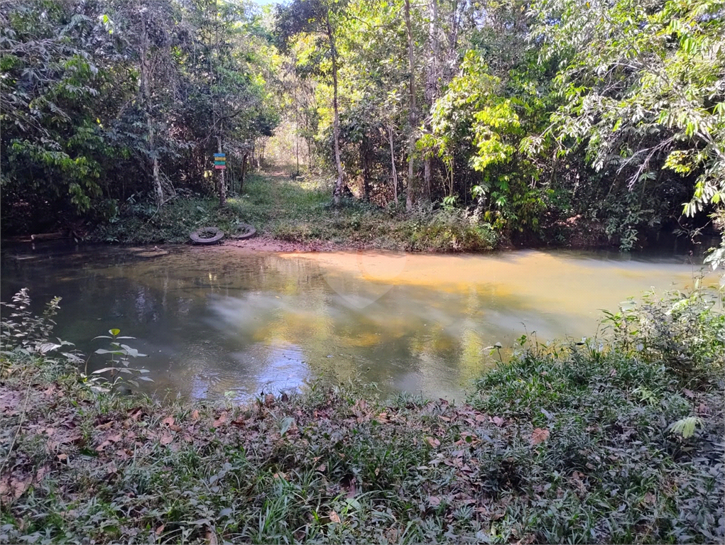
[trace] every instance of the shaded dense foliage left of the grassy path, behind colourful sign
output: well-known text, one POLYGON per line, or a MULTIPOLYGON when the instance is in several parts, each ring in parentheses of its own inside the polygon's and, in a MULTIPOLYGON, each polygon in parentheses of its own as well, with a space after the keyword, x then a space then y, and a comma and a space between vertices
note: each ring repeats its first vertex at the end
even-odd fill
POLYGON ((266 44, 254 10, 215 0, 3 2, 4 230, 213 191, 220 149, 239 185, 277 122, 266 44))

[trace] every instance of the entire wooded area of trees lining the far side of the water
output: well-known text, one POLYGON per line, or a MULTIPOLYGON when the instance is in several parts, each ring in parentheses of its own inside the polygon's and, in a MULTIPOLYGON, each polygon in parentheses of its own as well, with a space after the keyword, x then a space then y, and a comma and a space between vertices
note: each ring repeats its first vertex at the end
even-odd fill
POLYGON ((462 208, 529 241, 581 222, 623 249, 721 232, 724 16, 718 0, 4 2, 2 228, 223 202, 278 128, 336 204, 349 187, 462 208))

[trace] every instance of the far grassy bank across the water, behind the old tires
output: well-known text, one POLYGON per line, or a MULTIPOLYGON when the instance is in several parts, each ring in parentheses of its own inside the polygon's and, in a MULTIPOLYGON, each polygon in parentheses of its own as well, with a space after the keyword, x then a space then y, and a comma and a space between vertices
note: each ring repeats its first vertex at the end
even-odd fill
POLYGON ((236 222, 254 225, 281 241, 331 242, 353 247, 435 251, 491 249, 497 235, 489 225, 460 210, 382 209, 355 199, 341 207, 331 201, 326 180, 251 175, 241 195, 220 210, 215 198, 178 198, 161 210, 149 204, 125 204, 112 222, 90 238, 128 244, 182 243, 204 225, 228 230, 236 222))

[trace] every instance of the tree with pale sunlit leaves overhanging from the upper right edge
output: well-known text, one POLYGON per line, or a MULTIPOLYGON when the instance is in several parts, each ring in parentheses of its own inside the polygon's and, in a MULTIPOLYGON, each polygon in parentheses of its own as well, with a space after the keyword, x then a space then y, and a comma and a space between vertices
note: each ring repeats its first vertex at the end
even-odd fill
POLYGON ((721 0, 540 0, 533 7, 544 54, 563 56, 555 83, 566 101, 553 130, 630 189, 692 180, 689 216, 721 217, 725 201, 724 10, 721 0))

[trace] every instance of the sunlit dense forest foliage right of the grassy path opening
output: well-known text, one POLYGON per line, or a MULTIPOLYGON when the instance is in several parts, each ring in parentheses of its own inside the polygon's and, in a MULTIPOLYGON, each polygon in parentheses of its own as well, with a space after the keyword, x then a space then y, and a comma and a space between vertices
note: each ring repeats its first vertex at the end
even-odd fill
MULTIPOLYGON (((279 8, 278 31, 306 4, 279 8)), ((308 144, 330 168, 339 87, 341 162, 360 196, 463 207, 550 242, 589 230, 629 249, 663 228, 721 230, 721 1, 345 5, 337 81, 314 29, 287 48, 317 107, 308 144)))

